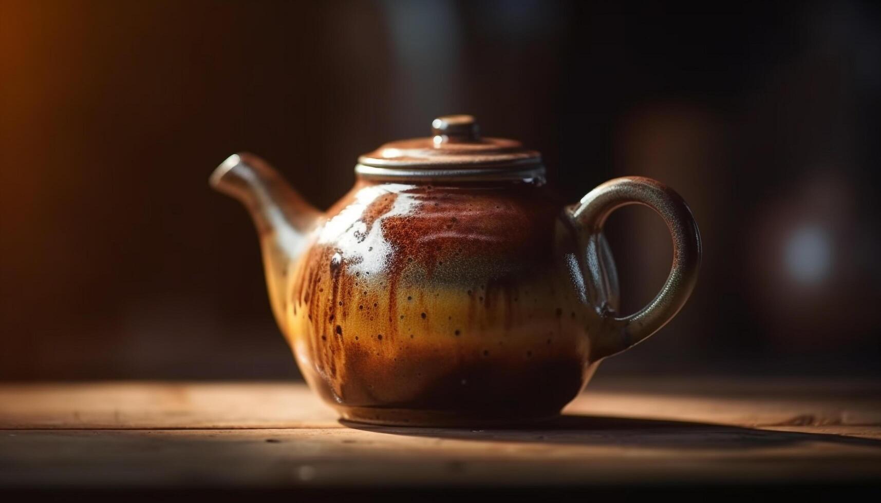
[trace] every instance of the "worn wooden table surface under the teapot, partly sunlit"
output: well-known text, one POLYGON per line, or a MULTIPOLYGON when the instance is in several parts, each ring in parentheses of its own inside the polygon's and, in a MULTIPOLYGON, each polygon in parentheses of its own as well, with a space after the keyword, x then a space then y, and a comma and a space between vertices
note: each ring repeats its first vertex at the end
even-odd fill
POLYGON ((552 425, 343 425, 284 382, 0 385, 0 487, 871 484, 881 383, 603 379, 552 425))

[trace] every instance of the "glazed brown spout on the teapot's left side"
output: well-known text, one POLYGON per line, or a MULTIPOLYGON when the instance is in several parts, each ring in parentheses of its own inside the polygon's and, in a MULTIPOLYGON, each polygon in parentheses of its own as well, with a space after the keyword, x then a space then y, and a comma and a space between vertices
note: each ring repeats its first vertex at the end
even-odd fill
POLYGON ((285 329, 285 284, 288 268, 307 247, 307 236, 321 212, 307 203, 272 166, 250 153, 226 159, 209 180, 211 187, 233 196, 254 218, 272 312, 285 329))

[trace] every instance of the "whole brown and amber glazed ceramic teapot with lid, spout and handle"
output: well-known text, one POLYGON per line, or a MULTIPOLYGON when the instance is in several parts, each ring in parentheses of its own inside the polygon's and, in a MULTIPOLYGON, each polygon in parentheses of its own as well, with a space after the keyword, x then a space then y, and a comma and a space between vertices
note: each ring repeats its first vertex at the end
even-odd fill
POLYGON ((692 213, 638 176, 566 206, 538 152, 480 137, 468 115, 432 127, 431 137, 361 156, 355 186, 324 213, 251 154, 226 159, 211 185, 251 212, 278 325, 309 386, 344 419, 473 426, 556 416, 601 359, 685 304, 700 265, 692 213), (603 223, 634 203, 669 227, 673 263, 655 300, 620 316, 603 223))

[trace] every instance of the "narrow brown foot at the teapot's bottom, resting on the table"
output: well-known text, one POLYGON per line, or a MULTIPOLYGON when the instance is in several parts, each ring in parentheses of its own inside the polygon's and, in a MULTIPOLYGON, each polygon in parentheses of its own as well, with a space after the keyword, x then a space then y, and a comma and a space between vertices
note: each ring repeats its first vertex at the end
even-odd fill
POLYGON ((377 407, 337 407, 344 423, 381 426, 413 426, 439 428, 470 428, 477 426, 510 427, 552 421, 559 418, 553 411, 430 411, 418 409, 385 409, 377 407))

